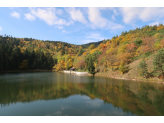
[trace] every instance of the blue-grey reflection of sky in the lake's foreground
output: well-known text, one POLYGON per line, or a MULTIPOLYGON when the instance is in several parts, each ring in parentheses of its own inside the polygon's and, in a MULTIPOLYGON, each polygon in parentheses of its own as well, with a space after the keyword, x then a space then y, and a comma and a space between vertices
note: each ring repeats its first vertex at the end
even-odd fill
POLYGON ((74 95, 66 99, 16 103, 0 108, 0 115, 132 115, 124 113, 121 108, 104 104, 103 100, 90 99, 87 96, 74 95))

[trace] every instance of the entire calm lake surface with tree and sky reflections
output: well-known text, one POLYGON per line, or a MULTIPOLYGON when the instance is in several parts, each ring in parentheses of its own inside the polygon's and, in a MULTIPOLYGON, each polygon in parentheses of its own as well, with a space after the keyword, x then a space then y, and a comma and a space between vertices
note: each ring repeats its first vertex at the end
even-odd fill
POLYGON ((164 116, 164 85, 55 72, 0 74, 0 105, 0 116, 164 116))

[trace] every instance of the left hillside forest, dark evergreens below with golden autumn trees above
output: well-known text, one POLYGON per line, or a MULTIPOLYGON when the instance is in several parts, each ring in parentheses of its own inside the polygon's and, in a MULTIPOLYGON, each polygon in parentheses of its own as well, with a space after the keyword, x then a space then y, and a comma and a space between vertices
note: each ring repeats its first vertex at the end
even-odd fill
POLYGON ((52 69, 58 57, 75 54, 72 45, 61 41, 40 41, 0 35, 0 71, 52 69))

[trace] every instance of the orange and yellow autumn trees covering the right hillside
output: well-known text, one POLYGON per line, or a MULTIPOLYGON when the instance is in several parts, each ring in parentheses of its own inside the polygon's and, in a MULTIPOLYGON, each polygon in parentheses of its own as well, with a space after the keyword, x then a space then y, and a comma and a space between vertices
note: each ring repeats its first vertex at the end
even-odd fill
MULTIPOLYGON (((98 46, 94 44, 84 50, 81 55, 76 55, 73 60, 73 66, 77 69, 88 70, 88 67, 97 69, 100 72, 119 71, 124 74, 129 71, 129 64, 138 59, 148 58, 150 55, 161 51, 164 48, 164 26, 144 26, 134 30, 122 32, 119 36, 116 35, 112 39, 103 40, 98 46), (94 56, 96 55, 96 57, 94 56), (88 66, 89 59, 92 60, 92 65, 88 66), (94 67, 93 67, 94 66, 94 67)), ((163 51, 162 51, 163 52, 163 51)), ((153 60, 154 69, 149 71, 154 75, 147 75, 144 70, 138 72, 138 75, 144 73, 144 76, 164 76, 164 61, 160 55, 157 60, 153 60), (155 61, 161 61, 155 63, 155 61), (161 69, 157 69, 157 67, 161 69)), ((67 61, 65 61, 67 62, 67 61)), ((55 68, 55 67, 54 67, 55 68)), ((63 69, 66 69, 63 67, 63 69)), ((92 70, 94 71, 94 70, 92 70)), ((93 72, 94 73, 94 72, 93 72)))

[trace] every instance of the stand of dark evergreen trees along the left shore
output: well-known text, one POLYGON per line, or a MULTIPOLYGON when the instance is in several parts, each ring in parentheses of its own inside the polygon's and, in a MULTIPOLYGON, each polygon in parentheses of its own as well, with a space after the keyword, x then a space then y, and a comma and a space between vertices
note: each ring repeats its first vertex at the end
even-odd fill
POLYGON ((0 71, 17 69, 51 69, 55 64, 52 56, 42 51, 26 49, 21 52, 18 46, 0 44, 0 71))

